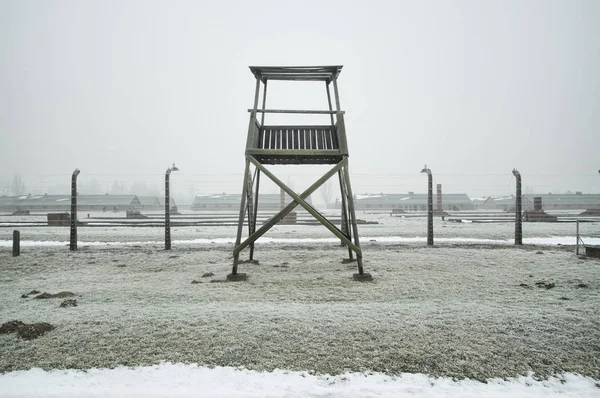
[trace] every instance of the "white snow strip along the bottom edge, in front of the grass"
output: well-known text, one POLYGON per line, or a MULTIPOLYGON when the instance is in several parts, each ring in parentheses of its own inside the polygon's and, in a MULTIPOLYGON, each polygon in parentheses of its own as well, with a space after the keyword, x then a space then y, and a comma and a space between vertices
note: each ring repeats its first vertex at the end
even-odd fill
POLYGON ((567 374, 535 380, 517 377, 473 380, 404 373, 347 373, 339 376, 275 370, 160 364, 150 367, 50 371, 0 375, 2 397, 597 397, 596 382, 567 374))

